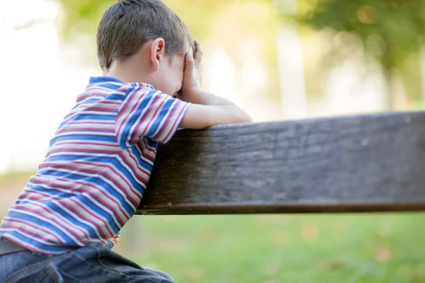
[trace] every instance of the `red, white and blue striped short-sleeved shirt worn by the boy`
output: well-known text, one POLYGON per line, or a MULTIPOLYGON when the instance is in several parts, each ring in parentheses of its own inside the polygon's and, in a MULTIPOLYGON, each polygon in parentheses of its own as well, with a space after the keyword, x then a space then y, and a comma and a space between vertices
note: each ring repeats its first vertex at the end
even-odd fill
POLYGON ((148 84, 91 78, 0 236, 44 254, 112 248, 142 200, 158 143, 171 139, 188 106, 148 84))

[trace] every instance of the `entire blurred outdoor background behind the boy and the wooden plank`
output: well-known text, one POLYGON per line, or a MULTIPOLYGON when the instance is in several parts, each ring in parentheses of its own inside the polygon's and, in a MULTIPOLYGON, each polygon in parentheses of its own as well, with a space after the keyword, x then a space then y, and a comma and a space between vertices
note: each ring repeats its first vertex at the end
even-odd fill
MULTIPOLYGON (((164 2, 203 44, 205 89, 256 122, 424 109, 424 0, 164 2)), ((96 28, 111 4, 0 1, 0 219, 101 75, 96 28)), ((114 249, 177 282, 425 282, 424 221, 135 216, 114 249)))

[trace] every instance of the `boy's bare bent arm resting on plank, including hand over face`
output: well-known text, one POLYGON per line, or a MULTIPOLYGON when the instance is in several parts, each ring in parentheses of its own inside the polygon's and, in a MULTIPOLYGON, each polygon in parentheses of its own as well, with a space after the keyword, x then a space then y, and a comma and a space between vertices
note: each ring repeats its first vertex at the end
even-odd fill
POLYGON ((203 129, 213 125, 252 122, 251 117, 236 104, 200 89, 198 81, 200 81, 202 48, 197 40, 195 47, 195 54, 186 54, 183 87, 179 95, 181 100, 192 104, 179 127, 203 129))

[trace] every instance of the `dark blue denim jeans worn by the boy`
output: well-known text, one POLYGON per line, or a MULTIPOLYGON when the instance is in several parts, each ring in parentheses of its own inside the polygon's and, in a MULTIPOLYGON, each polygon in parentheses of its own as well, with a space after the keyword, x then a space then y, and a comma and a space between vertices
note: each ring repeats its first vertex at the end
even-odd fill
POLYGON ((94 243, 62 255, 41 255, 30 250, 0 255, 0 282, 174 283, 174 280, 164 272, 140 267, 107 246, 94 243))

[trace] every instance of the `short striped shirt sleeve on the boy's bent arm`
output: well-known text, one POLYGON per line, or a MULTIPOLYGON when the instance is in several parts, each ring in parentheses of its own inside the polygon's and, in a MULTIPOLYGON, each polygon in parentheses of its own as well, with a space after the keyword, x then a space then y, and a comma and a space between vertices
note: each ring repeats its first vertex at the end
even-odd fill
POLYGON ((189 105, 149 86, 131 86, 115 122, 120 146, 127 149, 144 138, 166 143, 173 137, 189 105))

